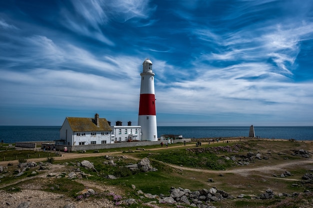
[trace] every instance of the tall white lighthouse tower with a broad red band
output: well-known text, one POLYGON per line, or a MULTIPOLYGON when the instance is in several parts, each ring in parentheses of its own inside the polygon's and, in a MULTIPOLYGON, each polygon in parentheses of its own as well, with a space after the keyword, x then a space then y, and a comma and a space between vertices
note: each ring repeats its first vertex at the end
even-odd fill
POLYGON ((154 73, 152 62, 147 58, 142 63, 138 126, 141 126, 141 140, 157 141, 154 73))

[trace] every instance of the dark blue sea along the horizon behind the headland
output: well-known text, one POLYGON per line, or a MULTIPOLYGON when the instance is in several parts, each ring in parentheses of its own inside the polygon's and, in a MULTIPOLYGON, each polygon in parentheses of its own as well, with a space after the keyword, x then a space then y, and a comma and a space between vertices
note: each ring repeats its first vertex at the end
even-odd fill
MULTIPOLYGON (((60 126, 0 126, 0 141, 53 141, 59 139, 60 126)), ((247 137, 247 127, 158 126, 158 137, 163 134, 182 135, 183 138, 247 137)), ((313 126, 254 126, 255 136, 268 139, 313 140, 313 126)))

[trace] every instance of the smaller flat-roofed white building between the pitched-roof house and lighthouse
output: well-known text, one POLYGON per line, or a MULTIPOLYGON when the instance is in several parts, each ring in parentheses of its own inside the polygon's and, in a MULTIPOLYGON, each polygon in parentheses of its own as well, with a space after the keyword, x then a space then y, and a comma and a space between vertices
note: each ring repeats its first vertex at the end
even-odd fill
POLYGON ((115 126, 111 126, 111 129, 111 143, 141 140, 141 127, 131 126, 130 121, 128 121, 127 126, 123 126, 121 121, 116 121, 115 126))

